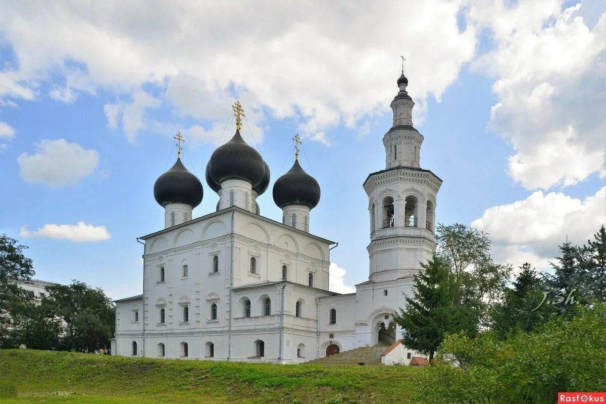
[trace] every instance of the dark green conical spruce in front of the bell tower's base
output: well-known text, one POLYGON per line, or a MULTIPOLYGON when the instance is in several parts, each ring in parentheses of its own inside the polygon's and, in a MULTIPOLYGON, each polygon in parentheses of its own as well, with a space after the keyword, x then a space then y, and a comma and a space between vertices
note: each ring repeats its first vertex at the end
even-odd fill
POLYGON ((429 356, 429 362, 448 331, 449 310, 452 305, 448 282, 448 266, 433 257, 415 275, 414 299, 405 297, 395 321, 403 329, 402 344, 429 356))

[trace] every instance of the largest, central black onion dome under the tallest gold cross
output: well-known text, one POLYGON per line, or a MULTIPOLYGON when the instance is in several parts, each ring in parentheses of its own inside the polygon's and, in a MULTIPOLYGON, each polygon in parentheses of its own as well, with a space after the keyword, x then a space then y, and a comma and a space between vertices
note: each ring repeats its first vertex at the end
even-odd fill
POLYGON ((242 139, 239 130, 229 142, 219 146, 208 161, 208 174, 215 184, 227 179, 242 179, 256 187, 264 173, 263 157, 242 139))

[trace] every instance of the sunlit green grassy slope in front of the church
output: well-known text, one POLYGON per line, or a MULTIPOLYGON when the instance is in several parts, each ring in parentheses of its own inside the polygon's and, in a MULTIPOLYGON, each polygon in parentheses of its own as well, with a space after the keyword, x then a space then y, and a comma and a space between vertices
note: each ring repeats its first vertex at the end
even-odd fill
POLYGON ((0 403, 408 403, 422 368, 0 350, 0 403))

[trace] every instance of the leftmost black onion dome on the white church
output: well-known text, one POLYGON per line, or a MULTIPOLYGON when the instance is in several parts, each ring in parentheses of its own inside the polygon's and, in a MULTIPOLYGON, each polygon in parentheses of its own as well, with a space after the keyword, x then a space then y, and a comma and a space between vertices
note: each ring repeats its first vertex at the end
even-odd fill
POLYGON ((162 207, 168 204, 186 204, 195 208, 202 202, 202 196, 202 183, 187 171, 180 158, 153 185, 153 197, 162 207))

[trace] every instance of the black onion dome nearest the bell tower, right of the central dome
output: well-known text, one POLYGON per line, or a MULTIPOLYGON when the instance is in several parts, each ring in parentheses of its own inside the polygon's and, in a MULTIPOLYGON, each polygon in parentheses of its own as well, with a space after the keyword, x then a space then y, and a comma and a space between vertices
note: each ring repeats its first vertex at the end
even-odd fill
POLYGON ((295 160, 293 167, 273 184, 273 201, 279 208, 287 205, 306 205, 313 209, 320 202, 318 181, 295 160))

